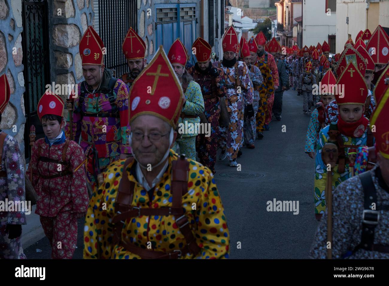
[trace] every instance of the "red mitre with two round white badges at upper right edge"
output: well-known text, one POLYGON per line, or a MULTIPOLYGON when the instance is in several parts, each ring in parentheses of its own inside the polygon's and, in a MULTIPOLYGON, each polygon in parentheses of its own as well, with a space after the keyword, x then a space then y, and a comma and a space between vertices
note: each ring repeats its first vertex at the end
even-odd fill
POLYGON ((366 51, 369 52, 374 63, 386 65, 389 61, 389 40, 388 35, 380 25, 373 32, 369 42, 366 44, 366 51))

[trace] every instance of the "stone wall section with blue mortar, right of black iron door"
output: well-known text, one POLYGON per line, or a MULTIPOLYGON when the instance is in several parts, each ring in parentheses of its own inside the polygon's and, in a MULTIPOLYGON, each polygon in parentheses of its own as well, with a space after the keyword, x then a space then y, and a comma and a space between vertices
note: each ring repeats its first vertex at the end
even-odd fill
MULTIPOLYGON (((79 42, 94 18, 93 0, 49 1, 50 74, 55 84, 84 80, 79 42)), ((68 94, 61 96, 66 99, 68 94)))

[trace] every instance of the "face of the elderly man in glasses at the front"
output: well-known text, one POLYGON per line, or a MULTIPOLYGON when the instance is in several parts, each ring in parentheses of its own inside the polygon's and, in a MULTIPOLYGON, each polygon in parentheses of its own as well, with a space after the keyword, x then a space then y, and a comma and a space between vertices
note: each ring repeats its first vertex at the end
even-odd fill
POLYGON ((155 117, 153 115, 140 115, 133 122, 131 122, 132 143, 131 147, 134 152, 137 161, 143 165, 151 164, 154 166, 158 164, 166 151, 173 146, 177 133, 174 133, 172 145, 169 144, 169 134, 171 126, 155 117), (141 137, 143 139, 136 140, 135 137, 141 137), (152 139, 161 135, 159 141, 150 141, 146 135, 152 139))

